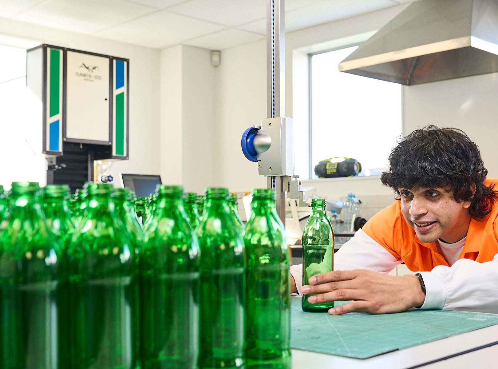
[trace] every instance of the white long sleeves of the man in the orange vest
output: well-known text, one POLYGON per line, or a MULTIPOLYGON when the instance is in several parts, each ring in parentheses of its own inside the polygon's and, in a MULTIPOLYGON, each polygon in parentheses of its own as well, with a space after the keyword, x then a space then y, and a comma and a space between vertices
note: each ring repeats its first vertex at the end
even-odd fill
MULTIPOLYGON (((369 269, 388 273, 402 261, 401 257, 395 257, 363 230, 359 230, 334 254, 334 269, 369 269)), ((290 273, 301 294, 302 264, 292 265, 290 273)), ((498 313, 498 253, 491 261, 478 262, 462 258, 451 267, 438 265, 431 271, 419 273, 426 288, 425 301, 420 309, 498 313)))

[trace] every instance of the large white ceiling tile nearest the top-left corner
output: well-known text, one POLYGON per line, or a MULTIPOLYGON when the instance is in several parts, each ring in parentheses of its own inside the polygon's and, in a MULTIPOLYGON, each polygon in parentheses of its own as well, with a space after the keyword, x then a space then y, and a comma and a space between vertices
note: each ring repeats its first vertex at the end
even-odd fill
POLYGON ((52 28, 94 33, 109 26, 148 14, 156 9, 120 0, 48 0, 13 18, 52 28))

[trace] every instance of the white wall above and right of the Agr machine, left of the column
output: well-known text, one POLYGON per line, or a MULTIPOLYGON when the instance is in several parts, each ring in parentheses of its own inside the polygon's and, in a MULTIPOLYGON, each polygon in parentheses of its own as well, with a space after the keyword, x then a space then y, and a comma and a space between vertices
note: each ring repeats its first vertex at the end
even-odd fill
POLYGON ((159 50, 5 18, 0 18, 1 40, 11 46, 49 43, 130 59, 129 160, 113 162, 109 172, 116 179, 120 172, 159 173, 159 50))

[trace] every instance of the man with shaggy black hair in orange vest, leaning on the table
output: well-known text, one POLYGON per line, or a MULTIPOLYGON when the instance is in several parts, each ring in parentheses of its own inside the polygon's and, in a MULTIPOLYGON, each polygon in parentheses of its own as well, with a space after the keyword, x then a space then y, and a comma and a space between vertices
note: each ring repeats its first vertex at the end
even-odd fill
POLYGON ((410 308, 498 313, 498 180, 460 129, 430 125, 402 138, 381 182, 397 194, 334 255, 334 271, 300 286, 308 301, 354 300, 329 310, 393 313, 410 308), (386 275, 404 262, 410 276, 386 275))

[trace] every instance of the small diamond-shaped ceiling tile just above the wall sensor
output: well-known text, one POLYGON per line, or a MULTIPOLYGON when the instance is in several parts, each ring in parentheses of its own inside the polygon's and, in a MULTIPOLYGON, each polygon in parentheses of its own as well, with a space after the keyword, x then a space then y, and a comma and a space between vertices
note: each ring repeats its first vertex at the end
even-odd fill
POLYGON ((223 50, 229 47, 262 39, 264 39, 263 35, 242 31, 240 29, 229 28, 207 36, 197 37, 183 43, 185 45, 202 47, 209 50, 223 50))

